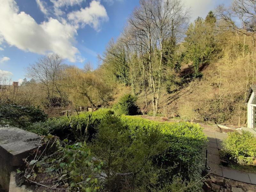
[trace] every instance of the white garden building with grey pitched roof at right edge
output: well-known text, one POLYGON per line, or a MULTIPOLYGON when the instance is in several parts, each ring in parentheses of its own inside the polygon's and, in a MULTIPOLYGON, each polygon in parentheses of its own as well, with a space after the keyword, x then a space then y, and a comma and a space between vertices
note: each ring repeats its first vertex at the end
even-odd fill
POLYGON ((256 131, 256 85, 251 85, 245 104, 247 104, 247 127, 256 131))

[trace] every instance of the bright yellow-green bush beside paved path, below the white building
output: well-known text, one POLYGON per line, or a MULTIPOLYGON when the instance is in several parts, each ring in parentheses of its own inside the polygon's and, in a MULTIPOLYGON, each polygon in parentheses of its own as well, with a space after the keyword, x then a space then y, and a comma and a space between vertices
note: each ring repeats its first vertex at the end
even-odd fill
POLYGON ((256 159, 256 138, 249 131, 228 133, 223 142, 222 157, 238 164, 252 164, 256 159))

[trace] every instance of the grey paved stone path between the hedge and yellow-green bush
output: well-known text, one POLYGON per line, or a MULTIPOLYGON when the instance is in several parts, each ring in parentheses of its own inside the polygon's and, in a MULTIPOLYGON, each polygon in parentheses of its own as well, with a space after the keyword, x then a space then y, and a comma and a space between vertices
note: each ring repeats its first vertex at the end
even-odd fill
POLYGON ((207 164, 212 168, 212 173, 228 179, 256 185, 256 174, 242 172, 220 165, 219 150, 222 148, 221 142, 227 138, 228 134, 215 131, 203 132, 209 140, 207 144, 207 164))

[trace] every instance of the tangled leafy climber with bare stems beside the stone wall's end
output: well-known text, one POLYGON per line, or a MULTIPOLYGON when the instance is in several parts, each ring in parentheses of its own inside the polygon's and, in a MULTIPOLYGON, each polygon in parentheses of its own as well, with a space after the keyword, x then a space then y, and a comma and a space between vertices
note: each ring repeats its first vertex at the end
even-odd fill
POLYGON ((50 189, 99 191, 97 178, 103 163, 93 158, 85 142, 68 144, 67 141, 60 142, 52 135, 44 137, 42 149, 27 163, 24 177, 28 182, 40 182, 50 189))

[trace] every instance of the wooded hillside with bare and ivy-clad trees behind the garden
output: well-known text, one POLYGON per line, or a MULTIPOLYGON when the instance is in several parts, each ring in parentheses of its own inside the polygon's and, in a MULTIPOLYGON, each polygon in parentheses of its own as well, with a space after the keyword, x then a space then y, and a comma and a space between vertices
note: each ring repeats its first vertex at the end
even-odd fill
POLYGON ((231 124, 240 117, 246 124, 244 100, 255 82, 256 1, 213 7, 190 24, 189 17, 181 0, 140 0, 97 69, 45 56, 28 67, 32 80, 19 93, 2 90, 1 102, 112 107, 131 93, 143 114, 231 124))

